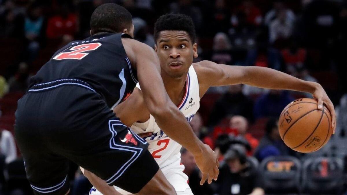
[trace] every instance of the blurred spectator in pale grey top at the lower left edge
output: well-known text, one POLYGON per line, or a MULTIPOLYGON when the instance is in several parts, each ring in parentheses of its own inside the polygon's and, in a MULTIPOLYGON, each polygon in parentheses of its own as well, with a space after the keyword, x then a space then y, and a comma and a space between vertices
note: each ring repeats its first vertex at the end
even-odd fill
POLYGON ((6 164, 16 160, 17 148, 15 139, 8 130, 0 130, 0 154, 5 156, 6 164))

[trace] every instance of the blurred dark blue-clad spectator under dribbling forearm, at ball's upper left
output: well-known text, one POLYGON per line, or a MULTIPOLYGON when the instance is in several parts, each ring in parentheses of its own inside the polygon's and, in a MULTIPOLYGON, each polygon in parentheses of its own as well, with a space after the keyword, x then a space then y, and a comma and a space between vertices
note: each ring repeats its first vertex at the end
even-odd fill
POLYGON ((256 100, 254 104, 254 118, 278 117, 283 108, 293 100, 294 98, 288 91, 270 90, 256 100))

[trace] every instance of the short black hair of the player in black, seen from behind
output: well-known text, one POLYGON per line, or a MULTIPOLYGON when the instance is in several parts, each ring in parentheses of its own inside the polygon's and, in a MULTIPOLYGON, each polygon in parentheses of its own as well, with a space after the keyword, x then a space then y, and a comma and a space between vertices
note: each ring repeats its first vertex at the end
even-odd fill
POLYGON ((105 3, 97 7, 90 18, 93 34, 100 32, 121 33, 133 24, 130 12, 116 3, 105 3))

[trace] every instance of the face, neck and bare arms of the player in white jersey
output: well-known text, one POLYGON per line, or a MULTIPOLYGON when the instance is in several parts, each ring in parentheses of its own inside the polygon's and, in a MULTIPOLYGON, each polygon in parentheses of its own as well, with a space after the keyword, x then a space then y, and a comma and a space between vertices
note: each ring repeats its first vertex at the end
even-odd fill
MULTIPOLYGON (((332 111, 333 124, 335 129, 335 110, 318 83, 306 82, 287 75, 280 71, 263 67, 243 67, 217 64, 211 61, 201 61, 192 63, 197 57, 197 44, 192 43, 190 36, 185 31, 162 31, 155 45, 161 66, 161 77, 165 89, 174 104, 177 106, 185 94, 186 76, 189 67, 193 65, 199 82, 199 93, 202 97, 211 86, 248 84, 262 88, 286 89, 312 93, 313 97, 319 101, 318 108, 325 102, 332 111), (330 106, 329 106, 330 105, 330 106)), ((146 109, 143 92, 138 88, 134 89, 132 95, 126 101, 113 109, 117 116, 126 124, 131 126, 134 122, 145 122, 149 119, 150 112, 146 109), (129 106, 136 108, 125 109, 129 106)), ((143 136, 148 136, 149 133, 143 136)), ((170 136, 169 136, 170 137, 170 136)), ((195 159, 196 161, 197 159, 195 159)), ((204 178, 202 178, 203 180, 204 178)), ((210 183, 212 179, 208 181, 210 183)), ((97 189, 101 190, 102 186, 97 189)), ((113 188, 114 189, 114 188, 113 188)))

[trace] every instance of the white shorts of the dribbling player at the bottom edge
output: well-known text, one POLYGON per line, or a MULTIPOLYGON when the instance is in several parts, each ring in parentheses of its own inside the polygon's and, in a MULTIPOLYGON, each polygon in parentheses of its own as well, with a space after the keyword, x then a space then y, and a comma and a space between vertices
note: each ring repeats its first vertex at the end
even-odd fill
MULTIPOLYGON (((170 164, 169 166, 161 168, 166 179, 174 186, 177 195, 193 195, 191 188, 188 185, 188 176, 183 172, 184 166, 180 164, 180 160, 170 164)), ((119 193, 123 195, 129 195, 131 193, 113 186, 119 193)), ((89 192, 90 195, 102 195, 99 190, 92 188, 89 192)))

